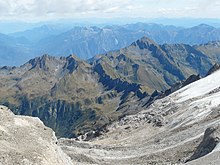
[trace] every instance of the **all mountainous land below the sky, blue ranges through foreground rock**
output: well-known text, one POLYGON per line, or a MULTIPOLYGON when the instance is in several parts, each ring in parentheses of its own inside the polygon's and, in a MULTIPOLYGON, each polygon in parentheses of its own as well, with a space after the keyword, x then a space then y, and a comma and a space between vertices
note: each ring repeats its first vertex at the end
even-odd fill
POLYGON ((0 164, 218 165, 219 38, 205 24, 0 34, 0 164))

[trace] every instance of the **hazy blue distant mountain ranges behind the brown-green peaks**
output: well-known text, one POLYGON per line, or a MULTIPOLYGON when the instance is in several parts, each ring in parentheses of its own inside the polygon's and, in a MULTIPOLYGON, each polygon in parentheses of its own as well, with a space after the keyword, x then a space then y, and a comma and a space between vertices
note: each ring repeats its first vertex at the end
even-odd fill
POLYGON ((220 29, 206 24, 191 28, 136 23, 104 27, 63 28, 43 25, 23 32, 0 35, 0 66, 18 66, 42 54, 90 59, 97 54, 127 47, 147 36, 158 44, 205 44, 220 40, 220 29))

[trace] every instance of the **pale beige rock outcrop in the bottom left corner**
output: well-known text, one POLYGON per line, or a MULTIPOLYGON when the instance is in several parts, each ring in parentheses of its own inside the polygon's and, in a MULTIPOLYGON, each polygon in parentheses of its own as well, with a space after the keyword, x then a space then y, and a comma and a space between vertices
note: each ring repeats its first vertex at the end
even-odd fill
POLYGON ((0 106, 1 165, 72 165, 54 132, 38 118, 16 116, 0 106))

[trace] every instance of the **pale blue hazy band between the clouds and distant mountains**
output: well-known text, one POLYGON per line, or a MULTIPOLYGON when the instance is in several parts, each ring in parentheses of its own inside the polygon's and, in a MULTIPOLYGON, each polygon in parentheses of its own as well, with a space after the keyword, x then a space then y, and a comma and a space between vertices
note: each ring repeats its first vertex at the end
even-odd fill
POLYGON ((50 21, 28 22, 20 20, 0 21, 0 33, 10 34, 30 30, 43 25, 63 26, 71 29, 74 26, 98 26, 106 25, 125 25, 136 23, 155 23, 161 25, 173 25, 176 27, 190 28, 199 24, 207 24, 216 28, 220 27, 220 19, 210 18, 85 18, 85 19, 57 19, 50 21))

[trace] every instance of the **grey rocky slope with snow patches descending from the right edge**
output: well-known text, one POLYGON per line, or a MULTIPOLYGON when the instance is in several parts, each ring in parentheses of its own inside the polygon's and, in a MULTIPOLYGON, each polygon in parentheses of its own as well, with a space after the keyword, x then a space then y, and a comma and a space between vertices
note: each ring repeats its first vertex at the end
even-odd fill
POLYGON ((60 139, 79 164, 200 164, 220 161, 220 71, 200 79, 88 142, 60 139))

